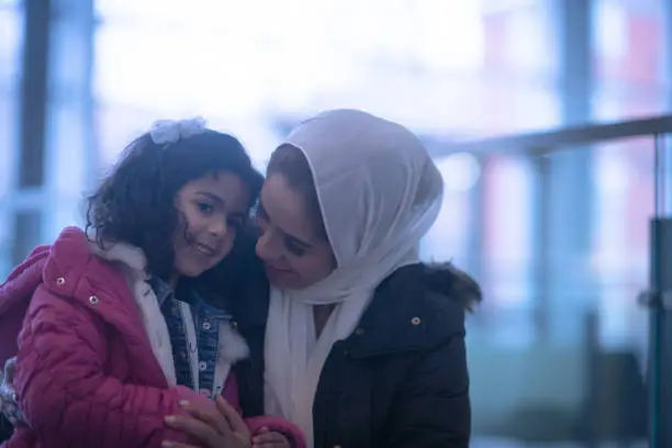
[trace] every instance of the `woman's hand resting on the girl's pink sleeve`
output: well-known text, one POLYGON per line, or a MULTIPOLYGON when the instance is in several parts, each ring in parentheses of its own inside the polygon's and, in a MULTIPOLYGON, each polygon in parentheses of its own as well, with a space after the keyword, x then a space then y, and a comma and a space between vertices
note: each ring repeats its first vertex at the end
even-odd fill
POLYGON ((217 395, 216 407, 180 403, 191 416, 170 415, 166 424, 200 440, 199 446, 164 440, 168 448, 250 448, 250 435, 236 410, 217 395))

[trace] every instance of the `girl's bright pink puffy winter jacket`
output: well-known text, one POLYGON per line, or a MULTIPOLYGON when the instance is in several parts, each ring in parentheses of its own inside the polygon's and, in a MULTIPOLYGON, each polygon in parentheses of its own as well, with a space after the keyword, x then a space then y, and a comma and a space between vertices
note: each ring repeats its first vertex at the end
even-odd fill
MULTIPOLYGON (((181 412, 180 400, 212 401, 168 387, 126 278, 91 253, 81 229, 66 228, 52 246, 36 248, 0 285, 0 366, 16 354, 14 381, 29 427, 5 448, 198 445, 164 418, 181 412)), ((237 407, 233 373, 223 394, 237 407)), ((246 422, 253 434, 269 427, 304 446, 285 421, 246 422)))

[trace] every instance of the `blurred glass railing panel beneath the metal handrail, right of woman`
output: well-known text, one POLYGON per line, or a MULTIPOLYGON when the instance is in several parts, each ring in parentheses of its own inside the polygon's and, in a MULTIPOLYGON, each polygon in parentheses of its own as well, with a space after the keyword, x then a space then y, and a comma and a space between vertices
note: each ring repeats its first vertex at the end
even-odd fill
POLYGON ((425 255, 485 292, 473 447, 672 447, 672 262, 651 244, 670 134, 672 115, 434 148, 447 199, 425 255))

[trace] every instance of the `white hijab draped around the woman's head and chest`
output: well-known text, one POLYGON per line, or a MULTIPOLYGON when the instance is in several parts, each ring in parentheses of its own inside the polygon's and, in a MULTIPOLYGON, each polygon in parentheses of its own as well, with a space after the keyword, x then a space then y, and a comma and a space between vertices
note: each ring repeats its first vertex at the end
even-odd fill
POLYGON ((284 144, 309 160, 338 267, 304 290, 271 290, 266 412, 296 424, 312 447, 313 400, 332 346, 352 333, 380 282, 418 261, 444 183, 415 135, 360 111, 318 114, 284 144), (312 307, 325 304, 336 307, 316 340, 312 307))

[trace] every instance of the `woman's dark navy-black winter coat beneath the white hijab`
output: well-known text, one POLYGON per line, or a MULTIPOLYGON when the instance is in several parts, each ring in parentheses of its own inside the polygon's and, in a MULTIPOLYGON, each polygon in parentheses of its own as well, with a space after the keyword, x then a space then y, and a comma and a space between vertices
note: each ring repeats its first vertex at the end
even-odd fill
MULTIPOLYGON (((220 288, 250 348, 234 370, 243 411, 254 416, 264 413, 268 284, 258 261, 244 266, 219 281, 228 279, 220 288)), ((480 299, 477 283, 450 265, 407 266, 383 281, 357 329, 334 345, 324 365, 314 447, 469 447, 464 311, 480 299)))

